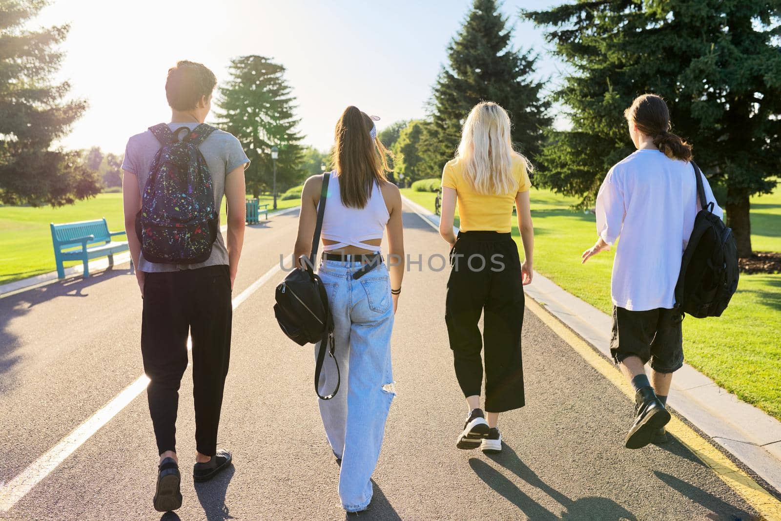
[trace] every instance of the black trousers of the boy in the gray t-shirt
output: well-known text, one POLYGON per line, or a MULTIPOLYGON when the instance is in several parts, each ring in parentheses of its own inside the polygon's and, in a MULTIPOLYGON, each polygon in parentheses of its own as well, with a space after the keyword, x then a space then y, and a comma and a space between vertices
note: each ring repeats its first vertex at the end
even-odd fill
POLYGON ((198 452, 217 450, 219 412, 230 360, 228 266, 146 273, 141 354, 149 412, 159 454, 176 451, 179 386, 187 369, 187 332, 192 337, 195 441, 198 452))

